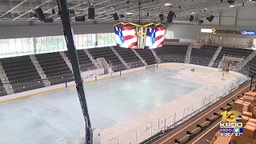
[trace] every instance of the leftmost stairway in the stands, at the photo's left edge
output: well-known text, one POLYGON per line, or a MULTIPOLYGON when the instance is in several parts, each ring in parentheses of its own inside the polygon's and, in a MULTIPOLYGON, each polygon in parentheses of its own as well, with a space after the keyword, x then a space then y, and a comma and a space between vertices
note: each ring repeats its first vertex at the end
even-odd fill
POLYGON ((7 95, 14 94, 14 89, 10 85, 10 81, 6 75, 5 70, 3 70, 2 64, 0 63, 0 79, 3 83, 3 87, 6 90, 7 95))

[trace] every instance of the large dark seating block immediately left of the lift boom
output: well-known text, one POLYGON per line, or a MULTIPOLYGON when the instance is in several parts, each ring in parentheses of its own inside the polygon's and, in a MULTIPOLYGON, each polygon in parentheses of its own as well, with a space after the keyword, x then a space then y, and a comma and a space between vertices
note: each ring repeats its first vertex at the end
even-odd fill
POLYGON ((59 52, 35 55, 51 85, 71 82, 74 76, 59 52))

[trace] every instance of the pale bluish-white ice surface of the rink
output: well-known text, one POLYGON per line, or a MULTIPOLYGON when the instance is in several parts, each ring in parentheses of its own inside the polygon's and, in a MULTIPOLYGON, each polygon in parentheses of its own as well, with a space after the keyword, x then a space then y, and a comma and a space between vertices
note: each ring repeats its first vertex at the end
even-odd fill
MULTIPOLYGON (((158 68, 85 84, 92 126, 106 129, 203 86, 158 68)), ((205 73, 209 73, 206 71, 205 73)), ((70 144, 85 124, 74 87, 0 104, 0 144, 70 144)))

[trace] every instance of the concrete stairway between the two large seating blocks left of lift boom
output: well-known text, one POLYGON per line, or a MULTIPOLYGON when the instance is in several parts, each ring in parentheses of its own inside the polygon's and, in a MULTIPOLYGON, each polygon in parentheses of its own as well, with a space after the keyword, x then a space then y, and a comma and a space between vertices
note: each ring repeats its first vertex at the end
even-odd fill
POLYGON ((30 59, 31 62, 33 62, 35 69, 38 71, 38 74, 41 77, 43 84, 45 84, 45 86, 51 86, 49 80, 46 77, 45 72, 42 70, 42 67, 39 64, 38 59, 35 58, 34 54, 30 55, 30 59))

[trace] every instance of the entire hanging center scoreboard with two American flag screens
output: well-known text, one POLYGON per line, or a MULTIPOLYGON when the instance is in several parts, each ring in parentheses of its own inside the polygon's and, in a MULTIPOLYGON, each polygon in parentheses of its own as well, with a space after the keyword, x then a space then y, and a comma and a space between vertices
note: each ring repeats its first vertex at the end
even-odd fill
POLYGON ((154 49, 162 47, 166 26, 161 23, 138 25, 119 22, 114 26, 117 46, 130 49, 154 49))

